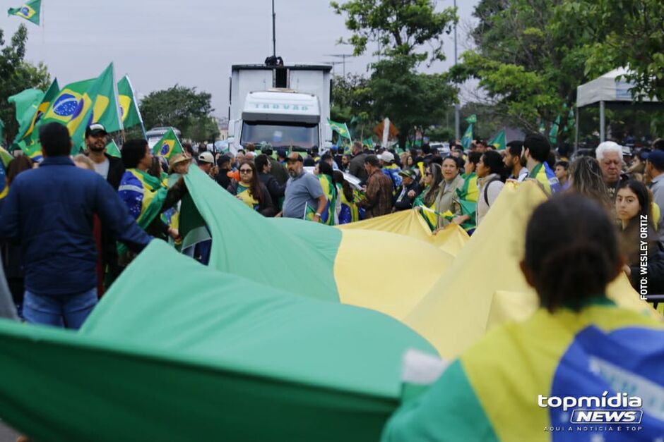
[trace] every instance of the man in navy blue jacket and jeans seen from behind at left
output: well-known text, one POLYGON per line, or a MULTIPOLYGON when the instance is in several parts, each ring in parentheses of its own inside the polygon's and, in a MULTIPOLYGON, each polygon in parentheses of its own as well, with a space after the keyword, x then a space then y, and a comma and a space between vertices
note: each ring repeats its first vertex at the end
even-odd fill
POLYGON ((136 252, 150 236, 102 176, 74 166, 64 125, 42 126, 40 142, 44 161, 13 181, 0 212, 0 238, 21 245, 25 319, 78 329, 97 304, 94 215, 136 252))

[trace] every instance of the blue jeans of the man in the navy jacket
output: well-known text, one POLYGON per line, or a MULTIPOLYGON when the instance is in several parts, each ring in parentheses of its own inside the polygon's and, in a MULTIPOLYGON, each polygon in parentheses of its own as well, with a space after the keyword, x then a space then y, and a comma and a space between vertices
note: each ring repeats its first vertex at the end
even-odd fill
POLYGON ((31 324, 80 329, 97 305, 97 288, 75 295, 36 295, 25 290, 23 317, 31 324))

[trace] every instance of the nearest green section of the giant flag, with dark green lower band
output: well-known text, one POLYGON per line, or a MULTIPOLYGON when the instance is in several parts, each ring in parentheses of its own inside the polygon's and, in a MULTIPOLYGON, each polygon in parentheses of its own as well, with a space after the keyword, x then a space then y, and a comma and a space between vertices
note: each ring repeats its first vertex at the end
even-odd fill
POLYGON ((78 333, 0 320, 0 415, 55 442, 377 441, 409 348, 434 352, 384 314, 153 240, 78 333))

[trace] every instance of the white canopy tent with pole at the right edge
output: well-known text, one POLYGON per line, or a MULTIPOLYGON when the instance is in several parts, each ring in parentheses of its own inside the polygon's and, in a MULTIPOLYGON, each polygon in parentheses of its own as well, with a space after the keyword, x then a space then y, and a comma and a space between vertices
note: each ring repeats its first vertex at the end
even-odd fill
MULTIPOLYGON (((627 73, 625 68, 617 68, 576 88, 576 145, 579 145, 579 108, 600 105, 600 142, 606 139, 605 105, 606 103, 634 102, 635 97, 630 89, 634 85, 620 75, 627 73)), ((656 102, 656 99, 640 97, 641 102, 656 102)))

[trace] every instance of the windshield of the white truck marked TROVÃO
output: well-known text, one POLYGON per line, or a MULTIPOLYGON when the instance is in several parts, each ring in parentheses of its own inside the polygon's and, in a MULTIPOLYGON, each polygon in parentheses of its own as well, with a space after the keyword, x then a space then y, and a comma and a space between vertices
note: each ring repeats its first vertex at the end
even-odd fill
POLYGON ((273 147, 320 146, 318 125, 307 123, 281 123, 276 121, 243 121, 240 143, 259 145, 268 143, 273 147))

